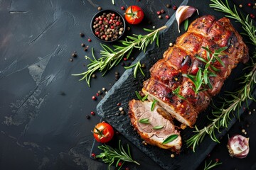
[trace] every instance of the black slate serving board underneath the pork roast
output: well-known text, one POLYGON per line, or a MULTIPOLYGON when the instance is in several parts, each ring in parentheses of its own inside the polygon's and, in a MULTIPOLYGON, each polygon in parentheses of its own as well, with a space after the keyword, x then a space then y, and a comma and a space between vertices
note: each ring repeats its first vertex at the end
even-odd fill
MULTIPOLYGON (((223 13, 214 11, 213 8, 209 8, 210 1, 203 1, 202 3, 202 1, 185 0, 180 2, 181 5, 191 5, 198 8, 200 16, 206 14, 212 14, 216 18, 222 18, 224 16, 223 13)), ((196 16, 195 13, 193 17, 189 19, 190 23, 197 17, 198 16, 196 16)), ((105 98, 103 98, 102 101, 100 101, 100 103, 97 105, 97 113, 122 135, 124 135, 127 140, 141 149, 142 152, 144 152, 147 156, 151 157, 151 159, 153 159, 154 162, 159 164, 159 166, 161 166, 163 169, 196 169, 196 167, 198 167, 198 165, 203 161, 203 159, 205 159, 208 153, 217 144, 216 142, 213 142, 210 137, 207 136, 201 145, 197 147, 196 152, 194 153, 190 148, 186 147, 184 142, 193 135, 193 129, 186 128, 186 130, 181 132, 181 136, 183 137, 183 148, 181 150, 181 154, 176 155, 175 159, 171 159, 170 155, 172 152, 165 149, 159 149, 159 147, 154 147, 151 145, 145 146, 142 144, 142 139, 139 137, 139 135, 137 135, 137 132, 134 132, 134 128, 132 127, 127 114, 119 116, 116 115, 116 113, 119 112, 119 106, 117 106, 117 103, 122 103, 122 107, 127 113, 128 102, 132 98, 137 98, 134 91, 139 91, 142 89, 143 80, 149 78, 149 68, 151 68, 151 66, 162 57, 164 51, 169 47, 169 43, 175 42, 176 38, 181 35, 178 33, 175 16, 171 16, 169 21, 166 23, 166 26, 168 26, 168 28, 162 31, 159 35, 160 47, 151 45, 151 47, 148 47, 145 53, 141 52, 139 56, 137 56, 137 60, 134 61, 137 62, 140 60, 141 63, 146 64, 146 78, 139 74, 137 79, 134 79, 133 70, 128 69, 126 72, 124 72, 119 81, 117 81, 114 86, 112 86, 112 89, 108 91, 105 98)), ((233 22, 233 26, 238 30, 238 32, 242 31, 242 28, 237 23, 233 22)), ((183 25, 181 25, 181 30, 183 30, 183 25)), ((224 91, 235 91, 235 89, 239 87, 238 81, 234 80, 235 78, 244 74, 241 71, 243 67, 243 64, 239 64, 238 67, 233 70, 233 73, 230 75, 229 79, 225 81, 220 94, 213 98, 214 103, 218 103, 218 98, 224 95, 224 91)), ((248 104, 250 104, 250 101, 248 104)), ((242 114, 245 111, 243 109, 244 107, 246 106, 242 106, 239 114, 242 114)), ((208 124, 206 115, 210 113, 211 110, 212 108, 209 107, 206 111, 199 115, 196 123, 199 128, 202 128, 208 124)), ((235 121, 235 118, 230 120, 229 128, 235 123, 235 121)), ((221 133, 216 136, 218 138, 222 137, 229 130, 229 128, 221 130, 221 133)))

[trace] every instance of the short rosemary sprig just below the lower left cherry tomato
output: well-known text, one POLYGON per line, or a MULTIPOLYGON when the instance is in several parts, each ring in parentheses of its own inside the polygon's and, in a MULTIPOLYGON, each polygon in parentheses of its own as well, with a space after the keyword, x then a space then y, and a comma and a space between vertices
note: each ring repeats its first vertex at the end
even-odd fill
MULTIPOLYGON (((138 162, 134 161, 132 159, 131 152, 129 151, 129 145, 127 145, 127 152, 125 151, 124 147, 121 145, 121 140, 119 140, 119 149, 114 149, 110 147, 109 145, 101 145, 98 148, 101 149, 103 152, 96 155, 96 158, 102 159, 102 161, 105 164, 109 164, 108 169, 110 169, 110 166, 117 161, 116 167, 118 166, 118 163, 122 161, 122 165, 124 162, 132 162, 134 164, 139 165, 138 162)), ((122 166, 119 167, 121 169, 122 166)))

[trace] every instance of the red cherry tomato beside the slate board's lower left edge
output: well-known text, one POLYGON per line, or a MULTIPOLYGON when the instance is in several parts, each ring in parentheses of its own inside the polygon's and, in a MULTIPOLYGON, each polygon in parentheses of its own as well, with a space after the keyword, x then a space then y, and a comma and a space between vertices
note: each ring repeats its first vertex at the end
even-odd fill
POLYGON ((98 123, 93 129, 93 136, 97 142, 110 142, 114 136, 114 129, 108 123, 98 123))

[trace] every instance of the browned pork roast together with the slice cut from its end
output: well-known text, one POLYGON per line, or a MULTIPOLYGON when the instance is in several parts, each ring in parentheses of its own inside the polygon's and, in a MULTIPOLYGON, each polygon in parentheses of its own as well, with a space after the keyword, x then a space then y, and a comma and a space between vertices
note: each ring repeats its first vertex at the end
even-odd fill
POLYGON ((238 62, 245 63, 248 60, 248 48, 228 18, 216 20, 214 16, 208 15, 196 19, 188 27, 188 31, 177 38, 175 45, 164 52, 163 58, 151 67, 151 77, 144 81, 142 88, 142 92, 148 95, 149 101, 158 101, 157 105, 159 106, 157 107, 164 108, 171 116, 162 118, 156 111, 150 111, 149 102, 144 101, 142 103, 142 101, 132 100, 129 103, 132 125, 149 144, 177 150, 181 147, 180 137, 171 142, 169 147, 161 145, 164 137, 172 133, 178 134, 174 125, 171 125, 171 119, 176 118, 183 125, 193 127, 198 113, 205 110, 210 99, 219 93, 223 82, 228 78, 232 69, 238 65, 238 62), (212 53, 221 47, 227 47, 223 51, 224 54, 218 56, 225 67, 220 62, 211 63, 213 67, 218 69, 218 72, 210 69, 210 72, 217 75, 209 77, 212 87, 204 86, 205 91, 195 94, 193 82, 184 77, 183 74, 196 75, 198 69, 205 67, 205 63, 196 57, 207 59, 207 52, 204 47, 207 47, 212 53), (178 86, 180 88, 178 94, 183 98, 173 93, 178 86), (138 123, 140 118, 146 117, 154 120, 156 124, 166 125, 164 130, 159 131, 161 135, 155 135, 157 131, 151 129, 152 125, 140 125, 138 123))

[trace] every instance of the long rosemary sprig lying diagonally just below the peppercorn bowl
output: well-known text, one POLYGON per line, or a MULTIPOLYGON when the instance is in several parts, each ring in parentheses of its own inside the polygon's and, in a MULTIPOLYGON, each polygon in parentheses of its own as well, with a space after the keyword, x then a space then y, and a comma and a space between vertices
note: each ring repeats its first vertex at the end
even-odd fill
POLYGON ((88 59, 91 62, 87 65, 88 70, 80 74, 73 74, 73 76, 82 76, 82 79, 85 79, 88 86, 90 86, 90 78, 92 77, 92 74, 94 72, 103 72, 103 77, 107 73, 107 71, 117 66, 117 64, 121 62, 124 55, 126 55, 128 59, 134 48, 146 52, 146 47, 154 42, 154 40, 156 40, 156 45, 159 46, 159 32, 160 30, 164 30, 166 28, 167 26, 162 26, 161 28, 158 28, 156 30, 149 30, 144 28, 144 30, 149 32, 149 34, 134 34, 133 36, 127 36, 126 40, 120 41, 122 43, 122 46, 113 45, 114 50, 112 50, 107 45, 101 44, 103 50, 100 50, 100 55, 102 57, 96 59, 92 50, 92 58, 85 56, 85 59, 88 59))

